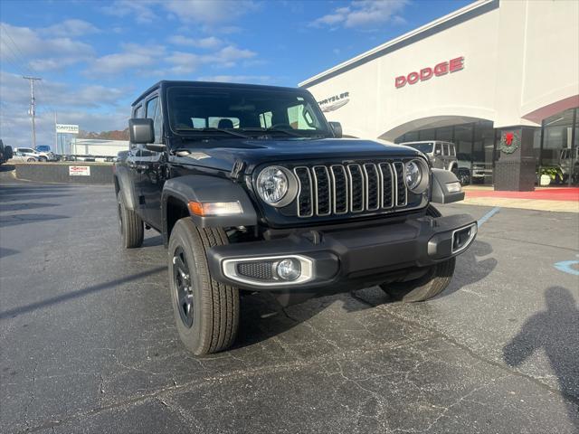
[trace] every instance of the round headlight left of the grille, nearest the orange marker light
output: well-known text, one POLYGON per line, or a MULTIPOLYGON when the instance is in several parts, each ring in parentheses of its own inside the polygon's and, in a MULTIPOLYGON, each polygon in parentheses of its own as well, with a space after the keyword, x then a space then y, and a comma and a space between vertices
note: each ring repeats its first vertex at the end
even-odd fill
POLYGON ((285 206, 293 201, 296 181, 285 167, 271 165, 257 177, 257 193, 265 203, 272 206, 285 206))

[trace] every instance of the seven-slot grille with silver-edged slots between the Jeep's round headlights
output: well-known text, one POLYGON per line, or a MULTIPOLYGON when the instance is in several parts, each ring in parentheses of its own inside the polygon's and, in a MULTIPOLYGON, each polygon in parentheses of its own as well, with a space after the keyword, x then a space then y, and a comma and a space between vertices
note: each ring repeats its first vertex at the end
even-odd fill
POLYGON ((408 204, 404 165, 352 163, 295 167, 298 216, 377 212, 408 204))

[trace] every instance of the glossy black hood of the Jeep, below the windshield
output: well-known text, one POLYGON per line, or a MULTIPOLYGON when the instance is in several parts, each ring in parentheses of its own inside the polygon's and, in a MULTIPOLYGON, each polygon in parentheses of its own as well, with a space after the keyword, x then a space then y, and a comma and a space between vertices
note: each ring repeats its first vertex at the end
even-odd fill
POLYGON ((191 154, 179 158, 180 163, 187 164, 188 160, 192 165, 230 171, 235 161, 243 161, 247 165, 248 172, 263 163, 422 155, 412 147, 357 138, 221 139, 185 142, 181 148, 190 150, 191 154))

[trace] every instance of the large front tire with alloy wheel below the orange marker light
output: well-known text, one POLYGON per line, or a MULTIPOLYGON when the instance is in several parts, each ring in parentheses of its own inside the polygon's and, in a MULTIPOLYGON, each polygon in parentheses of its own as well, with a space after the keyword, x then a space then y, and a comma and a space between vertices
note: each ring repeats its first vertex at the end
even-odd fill
POLYGON ((198 228, 185 217, 176 222, 168 248, 169 290, 176 328, 195 355, 229 348, 239 328, 239 290, 216 281, 207 250, 227 244, 223 229, 198 228))

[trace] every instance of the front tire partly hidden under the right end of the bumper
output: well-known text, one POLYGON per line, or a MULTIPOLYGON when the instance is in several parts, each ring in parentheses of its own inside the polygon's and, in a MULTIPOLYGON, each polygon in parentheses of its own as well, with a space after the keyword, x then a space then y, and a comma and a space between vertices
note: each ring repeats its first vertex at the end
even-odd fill
POLYGON ((380 288, 396 300, 406 303, 426 301, 438 296, 451 283, 456 258, 433 265, 421 278, 408 282, 384 283, 380 288))

